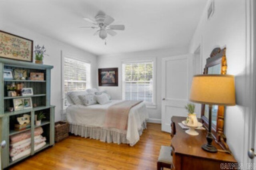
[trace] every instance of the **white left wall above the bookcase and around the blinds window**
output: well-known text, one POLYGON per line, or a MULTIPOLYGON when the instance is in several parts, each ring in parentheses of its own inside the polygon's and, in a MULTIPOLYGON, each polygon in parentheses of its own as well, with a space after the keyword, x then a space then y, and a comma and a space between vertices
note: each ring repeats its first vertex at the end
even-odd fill
POLYGON ((34 45, 44 45, 46 47, 46 53, 49 56, 44 58, 44 64, 53 65, 52 69, 52 81, 51 81, 51 105, 55 105, 55 121, 61 120, 62 113, 62 74, 61 74, 61 50, 65 54, 71 55, 71 57, 84 59, 91 62, 91 83, 92 87, 96 87, 97 77, 97 57, 91 53, 88 53, 82 49, 72 47, 66 43, 59 42, 52 38, 43 36, 31 30, 22 28, 20 26, 11 24, 8 21, 3 21, 0 17, 0 30, 9 32, 18 36, 22 36, 31 40, 34 40, 34 45), (95 75, 95 76, 94 76, 95 75))

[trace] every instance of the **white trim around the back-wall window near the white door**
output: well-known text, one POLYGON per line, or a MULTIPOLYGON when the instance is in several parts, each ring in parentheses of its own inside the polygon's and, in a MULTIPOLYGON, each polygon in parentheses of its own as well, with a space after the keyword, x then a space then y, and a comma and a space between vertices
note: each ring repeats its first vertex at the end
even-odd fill
POLYGON ((142 63, 142 62, 153 62, 153 102, 149 103, 146 102, 146 108, 147 109, 156 109, 156 57, 153 58, 147 58, 147 59, 138 59, 138 60, 130 60, 130 59, 125 59, 122 60, 122 100, 125 100, 125 91, 123 89, 125 89, 125 75, 124 75, 124 71, 123 71, 123 64, 128 64, 128 63, 142 63))

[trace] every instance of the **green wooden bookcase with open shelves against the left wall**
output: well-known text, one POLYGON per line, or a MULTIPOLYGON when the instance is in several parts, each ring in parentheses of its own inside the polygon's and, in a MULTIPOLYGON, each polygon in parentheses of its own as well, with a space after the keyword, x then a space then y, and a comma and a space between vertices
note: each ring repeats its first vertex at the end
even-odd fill
POLYGON ((28 156, 39 152, 40 150, 54 145, 54 109, 55 106, 50 105, 50 94, 51 94, 51 65, 34 64, 24 61, 16 61, 12 59, 0 58, 0 120, 1 120, 1 140, 6 140, 5 148, 1 150, 2 168, 6 168, 28 156), (14 80, 4 79, 4 69, 25 69, 27 70, 28 77, 30 72, 44 73, 43 81, 34 80, 14 80), (37 107, 32 109, 24 109, 20 111, 8 111, 8 107, 13 107, 14 98, 23 98, 24 96, 7 97, 6 85, 11 83, 24 83, 25 87, 32 87, 34 95, 26 96, 32 98, 32 103, 36 103, 37 107), (34 115, 38 111, 44 111, 46 113, 46 119, 42 120, 41 127, 44 130, 43 136, 46 136, 46 145, 39 150, 34 151, 34 129, 38 126, 35 125, 34 115), (31 116, 31 127, 26 130, 31 131, 31 152, 30 154, 12 162, 10 159, 10 136, 18 134, 23 131, 14 130, 14 121, 16 117, 22 116, 23 114, 29 114, 31 116))

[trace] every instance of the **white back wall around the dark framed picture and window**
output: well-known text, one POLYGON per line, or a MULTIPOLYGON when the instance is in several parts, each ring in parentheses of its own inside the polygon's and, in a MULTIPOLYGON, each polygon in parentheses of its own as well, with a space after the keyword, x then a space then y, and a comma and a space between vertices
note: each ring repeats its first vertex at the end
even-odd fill
POLYGON ((152 51, 138 51, 105 55, 98 57, 98 68, 118 67, 118 87, 98 87, 99 90, 106 90, 113 99, 122 99, 122 61, 142 60, 156 57, 156 109, 148 109, 150 121, 160 123, 161 119, 161 82, 162 82, 162 58, 186 54, 187 47, 175 49, 162 49, 152 51))

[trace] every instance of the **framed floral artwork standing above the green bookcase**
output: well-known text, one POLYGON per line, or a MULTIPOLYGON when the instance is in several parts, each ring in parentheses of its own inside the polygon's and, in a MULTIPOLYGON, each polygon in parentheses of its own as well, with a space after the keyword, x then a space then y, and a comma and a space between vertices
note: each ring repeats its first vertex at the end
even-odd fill
POLYGON ((0 57, 33 61, 33 41, 0 30, 0 57))

